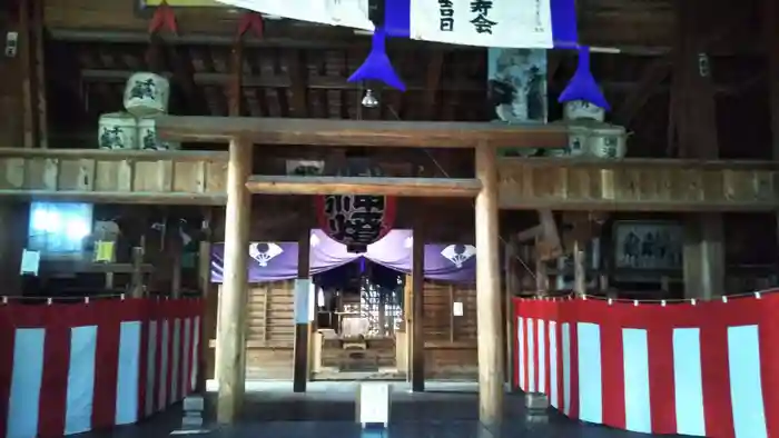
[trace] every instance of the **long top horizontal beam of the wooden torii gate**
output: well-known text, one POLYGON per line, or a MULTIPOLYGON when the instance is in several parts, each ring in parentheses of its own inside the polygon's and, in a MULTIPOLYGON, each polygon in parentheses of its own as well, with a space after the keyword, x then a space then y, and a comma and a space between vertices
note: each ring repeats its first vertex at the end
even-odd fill
POLYGON ((564 125, 404 122, 336 119, 162 116, 157 131, 168 140, 227 142, 245 138, 263 145, 406 148, 559 148, 564 125))

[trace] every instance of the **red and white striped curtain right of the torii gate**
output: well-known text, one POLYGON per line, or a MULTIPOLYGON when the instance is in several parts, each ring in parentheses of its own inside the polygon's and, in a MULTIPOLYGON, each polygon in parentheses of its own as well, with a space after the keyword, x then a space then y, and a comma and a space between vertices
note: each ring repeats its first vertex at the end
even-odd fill
POLYGON ((514 382, 647 434, 779 436, 779 293, 709 302, 515 299, 514 382))

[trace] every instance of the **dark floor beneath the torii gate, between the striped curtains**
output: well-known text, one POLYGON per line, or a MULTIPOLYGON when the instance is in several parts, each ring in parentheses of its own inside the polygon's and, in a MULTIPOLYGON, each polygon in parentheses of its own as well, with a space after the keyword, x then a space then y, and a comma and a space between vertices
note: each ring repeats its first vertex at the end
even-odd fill
MULTIPOLYGON (((525 421, 523 398, 507 395, 501 430, 479 424, 473 384, 427 382, 412 394, 405 382, 393 382, 387 429, 362 429, 354 422, 356 382, 312 382, 306 394, 292 392, 289 382, 249 382, 241 420, 230 427, 195 435, 204 438, 639 438, 625 432, 582 425, 552 414, 548 424, 525 421)), ((209 390, 215 389, 213 384, 209 390)), ((213 396, 213 392, 211 392, 213 396)), ((210 398, 210 397, 209 397, 210 398)), ((210 401, 210 400, 208 400, 210 401)), ((209 402, 213 405, 213 402, 209 402)), ((211 414, 209 412, 209 417, 211 414)), ((90 432, 82 438, 159 438, 180 426, 178 409, 136 426, 90 432)))

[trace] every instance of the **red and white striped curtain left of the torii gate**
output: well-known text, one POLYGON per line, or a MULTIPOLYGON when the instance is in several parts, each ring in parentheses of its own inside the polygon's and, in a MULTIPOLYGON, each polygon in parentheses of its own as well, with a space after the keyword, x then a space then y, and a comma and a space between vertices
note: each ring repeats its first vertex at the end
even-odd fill
POLYGON ((0 306, 0 434, 127 425, 195 389, 201 300, 0 306))

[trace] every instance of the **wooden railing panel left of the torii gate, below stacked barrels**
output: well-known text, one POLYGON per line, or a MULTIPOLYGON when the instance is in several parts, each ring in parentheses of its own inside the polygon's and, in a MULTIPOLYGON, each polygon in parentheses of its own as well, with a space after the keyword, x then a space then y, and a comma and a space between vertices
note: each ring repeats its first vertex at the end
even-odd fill
POLYGON ((0 148, 0 196, 224 205, 227 152, 0 148))

